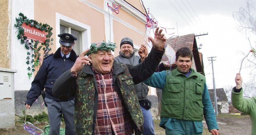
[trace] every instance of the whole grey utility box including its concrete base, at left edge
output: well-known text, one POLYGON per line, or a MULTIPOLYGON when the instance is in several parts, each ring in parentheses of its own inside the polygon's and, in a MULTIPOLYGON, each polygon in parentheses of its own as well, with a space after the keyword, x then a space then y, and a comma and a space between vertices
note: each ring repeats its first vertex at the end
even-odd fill
POLYGON ((17 70, 0 68, 0 128, 15 127, 14 73, 17 70))

